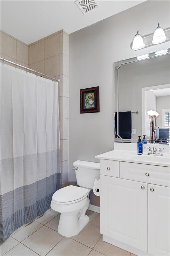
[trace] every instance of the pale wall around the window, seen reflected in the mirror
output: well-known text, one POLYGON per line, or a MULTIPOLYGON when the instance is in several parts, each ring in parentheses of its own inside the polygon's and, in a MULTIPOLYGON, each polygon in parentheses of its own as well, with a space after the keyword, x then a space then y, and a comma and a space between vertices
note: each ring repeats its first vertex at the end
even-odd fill
POLYGON ((156 121, 157 125, 162 128, 162 109, 170 109, 170 96, 156 97, 156 111, 159 113, 156 121))

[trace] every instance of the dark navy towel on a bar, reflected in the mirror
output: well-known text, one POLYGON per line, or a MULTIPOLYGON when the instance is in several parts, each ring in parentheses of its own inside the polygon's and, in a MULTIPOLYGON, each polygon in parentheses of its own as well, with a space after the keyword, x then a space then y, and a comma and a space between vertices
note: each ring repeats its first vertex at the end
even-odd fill
MULTIPOLYGON (((115 133, 117 134, 117 112, 115 113, 115 133)), ((131 111, 119 112, 119 135, 131 139, 131 111)))

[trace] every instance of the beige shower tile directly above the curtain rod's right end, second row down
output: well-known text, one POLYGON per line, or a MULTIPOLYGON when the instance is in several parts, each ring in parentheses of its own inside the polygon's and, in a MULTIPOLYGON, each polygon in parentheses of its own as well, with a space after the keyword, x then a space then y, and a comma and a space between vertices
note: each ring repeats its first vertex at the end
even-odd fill
POLYGON ((59 55, 44 60, 44 72, 52 77, 59 75, 59 55))

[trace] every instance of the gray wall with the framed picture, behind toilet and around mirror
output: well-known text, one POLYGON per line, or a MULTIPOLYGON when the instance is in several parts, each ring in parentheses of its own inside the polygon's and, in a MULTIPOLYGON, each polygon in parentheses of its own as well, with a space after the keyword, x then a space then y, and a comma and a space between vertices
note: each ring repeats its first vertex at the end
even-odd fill
POLYGON ((95 155, 114 148, 113 63, 168 48, 130 49, 137 30, 149 34, 158 22, 170 26, 169 1, 146 1, 69 35, 69 181, 76 180, 73 161, 99 162, 95 155), (93 86, 100 86, 100 113, 80 114, 80 89, 93 86))

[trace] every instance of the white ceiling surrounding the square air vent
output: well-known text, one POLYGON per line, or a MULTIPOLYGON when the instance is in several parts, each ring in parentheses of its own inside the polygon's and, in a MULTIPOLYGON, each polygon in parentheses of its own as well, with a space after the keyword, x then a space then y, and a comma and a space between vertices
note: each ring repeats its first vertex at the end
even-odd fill
POLYGON ((0 27, 30 44, 61 29, 73 33, 144 1, 98 0, 99 7, 84 15, 74 0, 1 0, 0 27))

